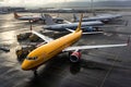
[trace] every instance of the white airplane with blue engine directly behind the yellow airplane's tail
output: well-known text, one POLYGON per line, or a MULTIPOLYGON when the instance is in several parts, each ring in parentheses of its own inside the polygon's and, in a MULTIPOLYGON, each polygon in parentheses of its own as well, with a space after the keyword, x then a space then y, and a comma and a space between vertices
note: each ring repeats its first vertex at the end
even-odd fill
MULTIPOLYGON (((45 14, 45 23, 46 25, 43 26, 44 29, 50 29, 50 30, 58 30, 58 32, 62 32, 66 29, 75 29, 79 25, 79 23, 71 23, 69 21, 64 21, 66 24, 56 24, 50 15, 46 15, 45 14)), ((82 29, 85 29, 86 32, 98 32, 95 28, 91 28, 91 26, 93 27, 98 27, 104 25, 103 22, 100 21, 92 21, 92 22, 82 22, 82 29)), ((98 32, 99 33, 99 32, 98 32)), ((102 32, 100 32, 102 33, 102 32)))

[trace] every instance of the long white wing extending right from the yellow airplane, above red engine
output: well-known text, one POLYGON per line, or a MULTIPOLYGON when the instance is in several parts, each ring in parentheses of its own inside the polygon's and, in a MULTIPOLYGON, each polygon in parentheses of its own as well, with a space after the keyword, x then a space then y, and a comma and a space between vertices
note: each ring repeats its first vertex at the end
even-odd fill
POLYGON ((69 47, 63 50, 66 51, 75 51, 75 50, 87 50, 87 49, 96 49, 96 48, 111 48, 111 47, 123 47, 128 46, 128 44, 119 44, 119 45, 99 45, 99 46, 78 46, 78 47, 69 47))

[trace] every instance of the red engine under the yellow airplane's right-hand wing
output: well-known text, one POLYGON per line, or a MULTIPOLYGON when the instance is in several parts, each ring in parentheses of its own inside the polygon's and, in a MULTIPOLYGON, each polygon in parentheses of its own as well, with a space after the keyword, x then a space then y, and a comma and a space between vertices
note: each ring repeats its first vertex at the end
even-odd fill
POLYGON ((81 52, 74 51, 70 54, 71 62, 79 62, 81 59, 81 52))

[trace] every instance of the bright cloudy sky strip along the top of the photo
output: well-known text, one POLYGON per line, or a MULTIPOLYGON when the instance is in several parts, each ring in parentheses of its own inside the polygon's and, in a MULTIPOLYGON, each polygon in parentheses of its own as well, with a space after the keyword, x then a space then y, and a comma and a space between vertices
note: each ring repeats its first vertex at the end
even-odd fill
MULTIPOLYGON (((1 5, 9 7, 35 7, 47 3, 70 2, 70 1, 91 1, 91 0, 0 0, 1 5)), ((94 1, 129 1, 129 0, 94 0, 94 1)))

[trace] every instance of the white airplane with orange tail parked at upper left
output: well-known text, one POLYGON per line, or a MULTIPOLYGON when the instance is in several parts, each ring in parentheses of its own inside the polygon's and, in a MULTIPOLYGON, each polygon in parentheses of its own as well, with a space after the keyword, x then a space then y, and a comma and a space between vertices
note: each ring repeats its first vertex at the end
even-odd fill
MULTIPOLYGON (((46 15, 49 15, 49 14, 46 14, 46 15)), ((16 20, 20 20, 20 21, 33 21, 33 22, 37 22, 37 21, 45 21, 45 16, 43 15, 39 15, 39 16, 33 16, 33 15, 19 15, 16 12, 14 12, 14 18, 16 20)), ((63 22, 63 18, 61 17, 53 17, 52 21, 55 23, 58 23, 58 22, 63 22)))

